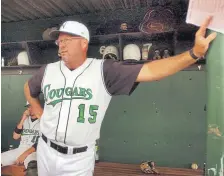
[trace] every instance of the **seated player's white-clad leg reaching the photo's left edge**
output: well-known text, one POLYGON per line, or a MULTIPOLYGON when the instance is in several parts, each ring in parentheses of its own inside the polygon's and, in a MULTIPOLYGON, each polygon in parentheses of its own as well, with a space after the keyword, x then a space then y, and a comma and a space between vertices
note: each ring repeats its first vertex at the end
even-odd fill
POLYGON ((2 166, 9 166, 15 164, 16 159, 26 150, 27 148, 16 148, 7 152, 1 153, 2 166))

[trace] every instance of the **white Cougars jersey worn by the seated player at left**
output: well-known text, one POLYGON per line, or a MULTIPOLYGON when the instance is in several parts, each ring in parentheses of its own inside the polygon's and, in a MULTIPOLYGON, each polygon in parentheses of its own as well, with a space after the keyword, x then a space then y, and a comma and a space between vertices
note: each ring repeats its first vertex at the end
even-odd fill
POLYGON ((19 147, 32 146, 37 143, 40 136, 40 120, 31 121, 28 117, 23 123, 23 131, 21 133, 21 140, 19 147))

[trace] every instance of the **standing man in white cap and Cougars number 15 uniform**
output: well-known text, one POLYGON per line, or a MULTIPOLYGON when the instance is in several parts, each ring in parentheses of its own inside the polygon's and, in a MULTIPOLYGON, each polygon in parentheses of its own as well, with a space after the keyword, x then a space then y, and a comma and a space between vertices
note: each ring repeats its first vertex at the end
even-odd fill
POLYGON ((41 118, 39 175, 92 175, 95 140, 111 97, 130 95, 139 82, 160 80, 194 64, 216 37, 216 33, 205 37, 210 21, 211 17, 197 31, 190 51, 144 64, 87 58, 89 31, 79 22, 67 21, 53 31, 50 35, 61 60, 44 65, 24 86, 27 100, 41 118))

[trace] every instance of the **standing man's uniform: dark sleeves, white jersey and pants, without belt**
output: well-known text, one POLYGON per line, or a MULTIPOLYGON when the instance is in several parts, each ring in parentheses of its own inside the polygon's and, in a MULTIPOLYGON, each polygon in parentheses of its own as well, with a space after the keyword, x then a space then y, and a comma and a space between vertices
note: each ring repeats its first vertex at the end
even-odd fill
POLYGON ((111 96, 130 95, 141 68, 142 64, 88 58, 73 71, 59 61, 42 66, 32 76, 30 95, 37 98, 43 92, 45 98, 41 133, 70 149, 88 146, 86 152, 67 157, 40 139, 37 162, 41 176, 93 175, 93 144, 99 138, 111 96))

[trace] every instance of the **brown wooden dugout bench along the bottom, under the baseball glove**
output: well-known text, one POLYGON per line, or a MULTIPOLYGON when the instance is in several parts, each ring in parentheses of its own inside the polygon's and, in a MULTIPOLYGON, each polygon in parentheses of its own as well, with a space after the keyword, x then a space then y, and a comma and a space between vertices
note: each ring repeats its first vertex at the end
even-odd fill
MULTIPOLYGON (((202 170, 156 167, 161 176, 202 176, 202 170)), ((7 166, 2 168, 2 174, 10 176, 24 176, 23 166, 7 166)), ((141 176, 154 175, 141 172, 138 164, 119 164, 99 162, 96 164, 94 176, 141 176)))

